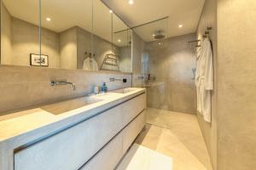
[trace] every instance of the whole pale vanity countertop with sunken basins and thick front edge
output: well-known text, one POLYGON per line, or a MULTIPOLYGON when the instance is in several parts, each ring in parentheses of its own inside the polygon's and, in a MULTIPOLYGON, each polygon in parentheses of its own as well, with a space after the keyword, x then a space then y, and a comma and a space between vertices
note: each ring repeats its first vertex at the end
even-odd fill
POLYGON ((133 89, 125 94, 109 92, 104 95, 68 99, 0 116, 0 149, 3 150, 3 146, 8 145, 9 149, 13 150, 20 144, 72 126, 145 92, 144 88, 133 89), (93 101, 97 102, 90 104, 93 101), (86 105, 86 102, 89 105, 86 105))

